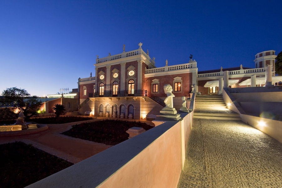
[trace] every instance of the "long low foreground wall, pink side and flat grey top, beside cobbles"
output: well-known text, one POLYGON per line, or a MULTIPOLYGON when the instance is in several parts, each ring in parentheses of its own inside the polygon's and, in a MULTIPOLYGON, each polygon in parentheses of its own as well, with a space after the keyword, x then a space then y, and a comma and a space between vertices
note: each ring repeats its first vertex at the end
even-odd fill
POLYGON ((190 117, 182 113, 28 187, 177 187, 190 117))

